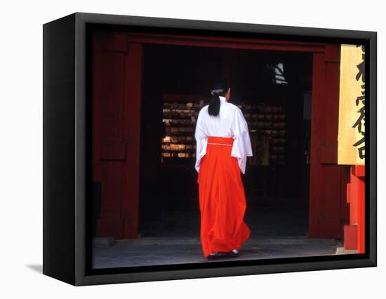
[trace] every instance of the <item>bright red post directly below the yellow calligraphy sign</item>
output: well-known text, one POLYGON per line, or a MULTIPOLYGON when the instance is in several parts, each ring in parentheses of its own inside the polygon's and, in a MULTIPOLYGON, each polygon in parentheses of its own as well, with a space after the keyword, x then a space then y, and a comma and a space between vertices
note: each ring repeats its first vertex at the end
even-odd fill
POLYGON ((347 184, 347 202, 350 203, 350 224, 345 225, 344 248, 364 253, 364 167, 350 168, 350 183, 347 184))

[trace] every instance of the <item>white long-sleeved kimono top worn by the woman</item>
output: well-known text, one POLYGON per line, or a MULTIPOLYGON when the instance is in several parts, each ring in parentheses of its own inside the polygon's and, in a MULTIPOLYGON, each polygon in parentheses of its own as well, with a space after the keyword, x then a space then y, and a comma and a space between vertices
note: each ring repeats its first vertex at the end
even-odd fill
POLYGON ((253 154, 248 124, 241 109, 227 102, 222 96, 220 96, 220 112, 217 116, 209 115, 208 107, 209 105, 206 105, 201 108, 194 133, 197 142, 195 165, 197 172, 199 172, 201 158, 206 154, 208 136, 218 136, 234 138, 231 156, 237 157, 240 170, 244 174, 246 157, 251 157, 253 154))

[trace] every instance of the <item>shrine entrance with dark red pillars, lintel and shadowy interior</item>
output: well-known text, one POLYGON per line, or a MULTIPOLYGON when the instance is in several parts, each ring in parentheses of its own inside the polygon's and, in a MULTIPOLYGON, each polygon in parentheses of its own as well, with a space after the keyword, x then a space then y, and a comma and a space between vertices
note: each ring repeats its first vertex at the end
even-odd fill
MULTIPOLYGON (((269 211, 279 203, 298 211, 293 218, 308 218, 302 232, 309 237, 342 237, 348 173, 337 164, 339 45, 124 32, 93 37, 93 181, 101 186, 97 236, 157 234, 149 223, 166 215, 165 206, 176 213, 198 208, 197 172, 189 164, 194 140, 177 110, 199 109, 208 89, 204 82, 212 84, 221 72, 237 81, 234 103, 244 105, 259 149, 248 158, 243 177, 249 211, 254 213, 253 206, 269 211), (181 55, 185 60, 178 60, 181 55), (199 72, 192 74, 194 67, 199 72), (243 86, 248 78, 263 81, 243 86), (179 126, 167 126, 176 115, 179 126), (183 142, 165 140, 178 137, 175 133, 183 142)), ((183 224, 191 221, 187 227, 197 233, 197 210, 181 215, 172 215, 168 224, 189 234, 183 224)))

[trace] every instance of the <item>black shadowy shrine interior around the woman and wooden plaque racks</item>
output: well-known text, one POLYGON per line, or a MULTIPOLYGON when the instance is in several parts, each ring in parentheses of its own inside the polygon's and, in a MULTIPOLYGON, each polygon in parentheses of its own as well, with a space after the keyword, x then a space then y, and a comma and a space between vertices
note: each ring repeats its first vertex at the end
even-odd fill
MULTIPOLYGON (((265 103, 286 112, 282 163, 269 160, 268 165, 251 165, 247 161, 246 174, 241 174, 245 221, 251 234, 307 234, 312 54, 146 44, 143 66, 141 237, 199 236, 196 159, 162 156, 162 140, 167 135, 163 108, 166 101, 186 105, 201 100, 206 105, 208 91, 224 74, 232 81, 235 105, 265 103)), ((244 106, 241 110, 245 116, 244 106)), ((191 127, 188 135, 194 136, 194 124, 191 127)), ((191 142, 195 144, 194 138, 191 142)))

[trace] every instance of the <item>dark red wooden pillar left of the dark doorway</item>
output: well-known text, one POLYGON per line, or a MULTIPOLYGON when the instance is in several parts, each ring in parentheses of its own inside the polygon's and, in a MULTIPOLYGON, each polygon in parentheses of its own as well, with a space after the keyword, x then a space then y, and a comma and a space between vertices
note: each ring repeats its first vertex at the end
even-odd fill
POLYGON ((142 45, 93 36, 93 180, 101 182, 97 235, 138 237, 142 45))

